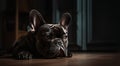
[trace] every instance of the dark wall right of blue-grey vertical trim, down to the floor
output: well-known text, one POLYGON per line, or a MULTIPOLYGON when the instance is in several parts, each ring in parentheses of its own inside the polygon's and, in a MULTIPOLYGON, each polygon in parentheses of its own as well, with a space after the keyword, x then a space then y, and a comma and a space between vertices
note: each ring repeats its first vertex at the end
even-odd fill
POLYGON ((88 51, 120 51, 120 10, 116 0, 92 0, 92 40, 88 51))

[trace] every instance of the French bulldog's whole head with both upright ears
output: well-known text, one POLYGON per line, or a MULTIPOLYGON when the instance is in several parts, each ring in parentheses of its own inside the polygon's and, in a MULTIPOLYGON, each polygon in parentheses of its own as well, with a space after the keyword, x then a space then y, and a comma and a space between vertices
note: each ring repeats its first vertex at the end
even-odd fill
POLYGON ((58 24, 47 24, 37 10, 30 11, 28 32, 35 34, 36 48, 42 56, 54 57, 60 53, 67 56, 70 21, 70 13, 64 13, 58 24))

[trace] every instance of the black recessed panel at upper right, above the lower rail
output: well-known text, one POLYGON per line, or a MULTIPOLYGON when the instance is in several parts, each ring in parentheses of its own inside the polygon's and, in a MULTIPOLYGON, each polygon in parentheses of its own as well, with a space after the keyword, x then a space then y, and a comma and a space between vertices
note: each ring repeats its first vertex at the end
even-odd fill
POLYGON ((118 1, 93 0, 93 40, 119 42, 119 17, 118 1))

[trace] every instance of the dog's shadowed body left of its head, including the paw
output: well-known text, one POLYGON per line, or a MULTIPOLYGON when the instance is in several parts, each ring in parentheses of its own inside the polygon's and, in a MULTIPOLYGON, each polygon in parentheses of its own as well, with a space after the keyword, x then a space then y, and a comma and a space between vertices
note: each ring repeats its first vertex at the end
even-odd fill
MULTIPOLYGON (((18 60, 31 59, 34 50, 34 38, 31 35, 20 37, 13 45, 13 57, 18 60)), ((35 51, 34 51, 35 52, 35 51)))

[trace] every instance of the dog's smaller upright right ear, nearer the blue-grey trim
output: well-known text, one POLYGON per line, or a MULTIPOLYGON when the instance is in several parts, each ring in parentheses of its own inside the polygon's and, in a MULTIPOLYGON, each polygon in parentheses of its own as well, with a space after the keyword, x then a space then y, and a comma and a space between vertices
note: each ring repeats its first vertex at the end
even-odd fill
POLYGON ((60 20, 60 25, 63 26, 65 29, 67 29, 71 20, 72 20, 71 14, 68 12, 64 13, 60 20))

